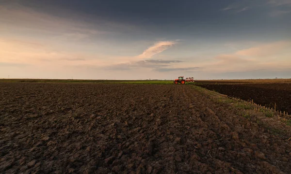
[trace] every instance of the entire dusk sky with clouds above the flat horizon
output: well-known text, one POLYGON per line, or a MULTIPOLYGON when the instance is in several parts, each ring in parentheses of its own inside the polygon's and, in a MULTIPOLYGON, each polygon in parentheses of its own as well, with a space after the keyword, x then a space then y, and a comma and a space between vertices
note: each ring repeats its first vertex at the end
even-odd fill
POLYGON ((0 78, 291 78, 291 0, 0 0, 0 78))

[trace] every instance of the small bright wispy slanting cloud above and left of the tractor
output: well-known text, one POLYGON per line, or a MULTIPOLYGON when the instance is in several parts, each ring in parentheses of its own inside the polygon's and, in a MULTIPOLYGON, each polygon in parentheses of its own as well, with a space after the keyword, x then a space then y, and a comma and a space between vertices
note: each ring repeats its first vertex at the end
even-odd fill
POLYGON ((155 43, 153 46, 148 47, 143 54, 138 55, 137 58, 152 58, 156 54, 163 52, 169 47, 173 46, 177 42, 174 41, 159 41, 155 43))

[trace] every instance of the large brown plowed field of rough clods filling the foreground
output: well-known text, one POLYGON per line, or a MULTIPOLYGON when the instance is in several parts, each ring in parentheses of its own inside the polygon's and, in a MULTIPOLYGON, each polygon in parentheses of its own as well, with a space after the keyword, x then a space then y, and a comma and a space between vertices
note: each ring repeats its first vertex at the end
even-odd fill
POLYGON ((290 126, 210 93, 0 83, 0 173, 290 174, 290 126))

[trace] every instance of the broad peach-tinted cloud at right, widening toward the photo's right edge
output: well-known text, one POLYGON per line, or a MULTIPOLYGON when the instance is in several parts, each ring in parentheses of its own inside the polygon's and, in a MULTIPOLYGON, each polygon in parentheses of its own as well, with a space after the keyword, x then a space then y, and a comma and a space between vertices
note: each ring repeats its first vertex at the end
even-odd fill
POLYGON ((279 71, 291 67, 291 41, 263 43, 234 53, 218 55, 205 64, 197 64, 209 72, 239 72, 266 69, 279 71))

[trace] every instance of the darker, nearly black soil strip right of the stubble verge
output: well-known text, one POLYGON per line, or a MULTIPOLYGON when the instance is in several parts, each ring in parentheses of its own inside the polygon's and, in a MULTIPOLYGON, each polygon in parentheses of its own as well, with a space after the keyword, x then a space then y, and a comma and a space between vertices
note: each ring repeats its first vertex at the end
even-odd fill
POLYGON ((291 114, 291 83, 275 84, 204 84, 209 90, 242 100, 253 100, 257 104, 275 108, 291 114))

